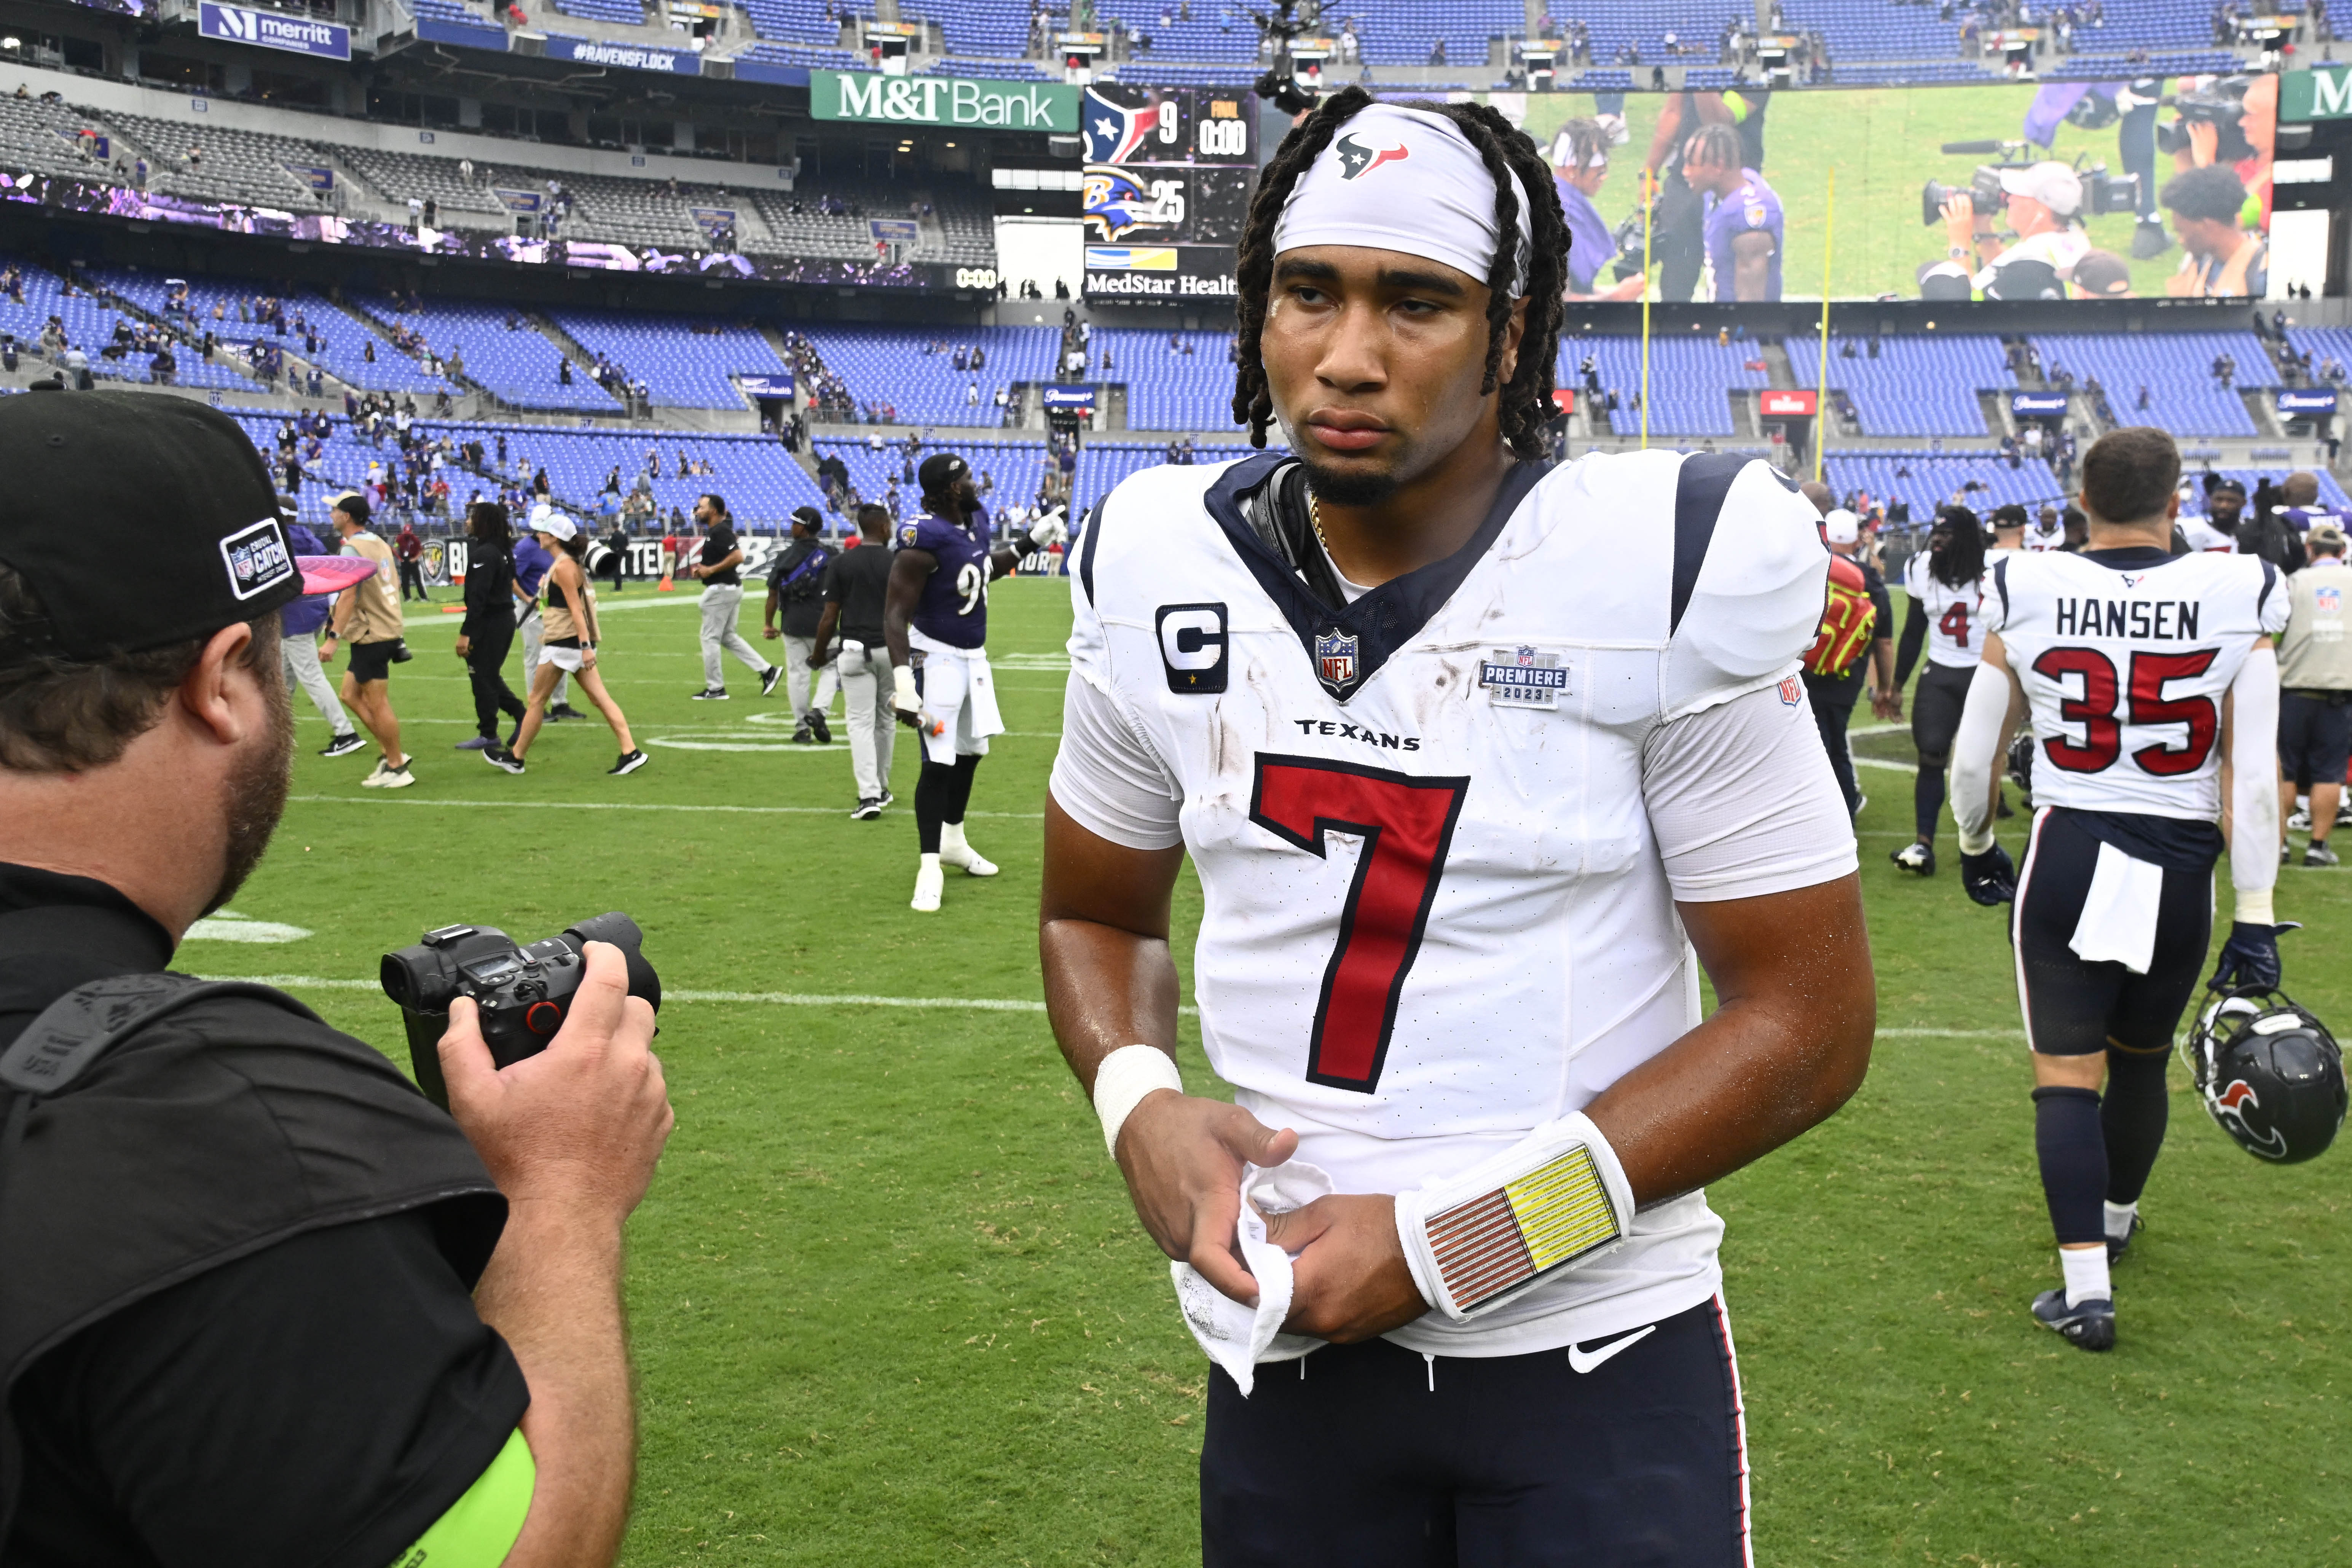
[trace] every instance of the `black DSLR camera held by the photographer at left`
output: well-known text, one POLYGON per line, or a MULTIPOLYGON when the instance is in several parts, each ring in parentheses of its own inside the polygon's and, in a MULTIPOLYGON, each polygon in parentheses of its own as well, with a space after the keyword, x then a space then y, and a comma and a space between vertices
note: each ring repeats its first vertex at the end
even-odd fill
POLYGON ((628 994, 661 1011, 661 976, 644 961, 644 933, 614 910, 564 926, 560 936, 517 947, 496 926, 440 926, 414 947, 383 954, 383 994, 400 1006, 409 1032, 409 1065, 426 1098, 449 1110, 449 1086, 440 1074, 440 1037, 449 1032, 449 1004, 473 997, 480 1009, 489 1060, 510 1067, 539 1056, 572 1016, 572 997, 588 973, 588 943, 612 943, 628 961, 628 994))

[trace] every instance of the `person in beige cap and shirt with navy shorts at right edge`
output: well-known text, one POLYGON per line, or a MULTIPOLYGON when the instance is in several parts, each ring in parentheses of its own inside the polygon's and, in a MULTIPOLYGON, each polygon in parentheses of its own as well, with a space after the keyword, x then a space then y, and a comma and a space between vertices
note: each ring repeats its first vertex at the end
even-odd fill
MULTIPOLYGON (((2310 795, 2312 842, 2303 865, 2319 867, 2336 865, 2328 832, 2352 764, 2352 642, 2345 639, 2352 567, 2336 520, 2314 522, 2303 548, 2312 564, 2286 578, 2286 632, 2279 637, 2279 816, 2293 816, 2296 797, 2310 795)), ((2286 863, 2286 835, 2279 835, 2279 863, 2286 863)))

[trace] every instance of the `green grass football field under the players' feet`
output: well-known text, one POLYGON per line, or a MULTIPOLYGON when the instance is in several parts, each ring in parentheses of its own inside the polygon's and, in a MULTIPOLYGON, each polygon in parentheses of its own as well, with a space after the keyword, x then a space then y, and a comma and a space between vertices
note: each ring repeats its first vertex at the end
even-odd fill
MULTIPOLYGON (((546 731, 524 778, 449 750, 470 733, 456 616, 419 614, 393 679, 416 788, 360 790, 367 755, 318 759, 325 726, 296 696, 294 802, 233 912, 308 933, 191 940, 181 969, 280 976, 405 1065, 374 987, 388 947, 459 919, 522 940, 640 919, 670 985, 677 1133, 630 1232, 630 1563, 1197 1561, 1207 1363, 1037 1004, 1065 583, 995 592, 1011 733, 969 832, 1004 872, 950 875, 936 917, 906 907, 913 811, 847 820, 847 748, 793 748, 781 698, 741 668, 736 701, 687 701, 689 595, 630 588, 604 614, 649 769, 604 778, 602 724, 546 731)), ((1712 1190, 1757 1559, 2352 1559, 2352 1150, 2258 1166, 2176 1065, 2173 1140, 2117 1274, 2122 1345, 2089 1356, 2034 1328, 2056 1262, 2009 945, 1950 863, 1931 882, 1886 865, 1910 837, 1907 743, 1858 750, 1891 764, 1867 769, 1860 823, 1870 1081, 1712 1190)), ((913 780, 901 745, 901 802, 913 780)), ((2016 844, 2023 818, 2004 827, 2016 844)), ((2347 877, 2286 872, 2279 896, 2310 922, 2288 980, 2338 1023, 2347 877)), ((1178 926, 1197 910, 1188 884, 1178 926)), ((1185 1072, 1207 1086, 1190 1023, 1185 1072)))

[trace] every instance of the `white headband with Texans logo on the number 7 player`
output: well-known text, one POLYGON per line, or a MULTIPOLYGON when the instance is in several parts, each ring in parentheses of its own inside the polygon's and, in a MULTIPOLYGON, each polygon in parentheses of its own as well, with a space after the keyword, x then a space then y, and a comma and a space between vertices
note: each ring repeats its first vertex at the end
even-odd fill
MULTIPOLYGON (((1510 292, 1519 296, 1529 209, 1517 174, 1510 190, 1519 197, 1510 292)), ((1369 103, 1348 120, 1291 186, 1275 223, 1277 256, 1308 244, 1359 244, 1442 261, 1482 282, 1498 242, 1486 160, 1454 120, 1395 103, 1369 103)))

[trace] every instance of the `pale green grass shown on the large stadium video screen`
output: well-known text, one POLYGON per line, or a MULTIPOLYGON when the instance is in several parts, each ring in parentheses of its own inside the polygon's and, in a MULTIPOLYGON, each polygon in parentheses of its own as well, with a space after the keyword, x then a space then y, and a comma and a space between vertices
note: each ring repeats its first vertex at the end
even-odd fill
MULTIPOLYGON (((1830 299, 1919 296, 1919 263, 1943 261, 1947 235, 1938 221, 1919 223, 1919 188, 1938 179, 1969 186, 1990 155, 1947 155, 1945 141, 2020 141, 2032 85, 1990 87, 1856 87, 1842 92, 1776 92, 1764 118, 1764 179, 1780 195, 1788 219, 1780 287, 1788 299, 1820 299, 1823 235, 1830 233, 1830 172, 1837 172, 1835 247, 1830 252, 1830 299)), ((1625 99, 1630 141, 1611 153, 1609 183, 1595 205, 1613 226, 1635 212, 1642 160, 1658 125, 1665 94, 1637 92, 1625 99)), ((1550 148, 1552 134, 1576 115, 1590 115, 1590 94, 1534 94, 1526 99, 1526 132, 1550 148)), ((2074 162, 2105 162, 2122 174, 2114 125, 2086 132, 2060 125, 2053 148, 2034 153, 2074 162)), ((2157 186, 2171 179, 2171 158, 2157 158, 2157 186)), ((2131 263, 2133 294, 2164 294, 2164 280, 2180 266, 2176 244, 2154 261, 2131 261, 2133 216, 2084 219, 2091 244, 2131 263)), ((1837 320, 1832 315, 1832 329, 1837 320)), ((1851 322, 1853 331, 1865 324, 1851 322)))

